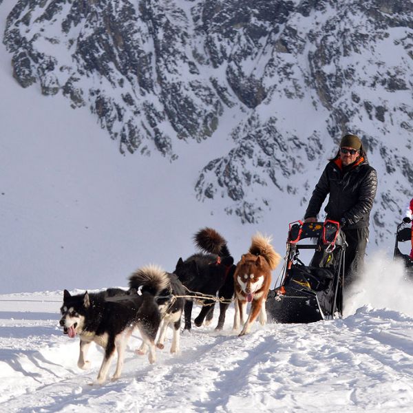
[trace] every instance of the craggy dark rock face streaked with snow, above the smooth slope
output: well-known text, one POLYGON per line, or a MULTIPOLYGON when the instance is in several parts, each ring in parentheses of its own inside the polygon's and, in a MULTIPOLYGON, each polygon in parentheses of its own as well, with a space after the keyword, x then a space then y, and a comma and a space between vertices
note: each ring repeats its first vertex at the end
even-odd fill
POLYGON ((231 114, 194 191, 242 222, 284 196, 304 214, 348 131, 379 171, 378 238, 413 196, 410 0, 18 0, 3 43, 21 86, 88 107, 122 153, 179 162, 231 114))

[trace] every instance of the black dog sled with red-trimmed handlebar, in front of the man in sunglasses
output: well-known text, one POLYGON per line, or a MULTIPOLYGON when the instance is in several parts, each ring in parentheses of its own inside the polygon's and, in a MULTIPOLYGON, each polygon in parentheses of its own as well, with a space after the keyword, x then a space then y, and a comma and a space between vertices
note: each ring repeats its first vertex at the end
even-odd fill
POLYGON ((266 300, 268 321, 311 323, 341 318, 346 237, 339 222, 293 222, 289 226, 281 283, 266 300), (310 264, 299 258, 314 250, 310 264))

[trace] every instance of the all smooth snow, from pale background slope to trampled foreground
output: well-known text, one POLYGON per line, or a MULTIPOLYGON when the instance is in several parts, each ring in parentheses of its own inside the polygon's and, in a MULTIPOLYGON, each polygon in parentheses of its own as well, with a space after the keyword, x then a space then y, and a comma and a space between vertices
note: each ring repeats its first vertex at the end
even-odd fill
MULTIPOLYGON (((1 3, 0 28, 13 4, 1 3)), ((392 245, 368 250, 343 319, 256 324, 237 337, 231 306, 222 332, 218 312, 184 332, 180 354, 168 352, 169 331, 154 365, 134 354, 134 334, 122 377, 89 385, 103 353, 92 347, 91 370, 77 368, 78 339, 59 328, 63 288, 125 286, 150 262, 173 271, 202 226, 218 229, 234 257, 256 231, 283 253, 287 223, 305 207, 285 195, 260 226, 242 226, 219 202, 195 200, 199 165, 226 153, 229 140, 215 144, 240 113, 228 110, 206 142, 179 142, 182 162, 168 162, 156 151, 121 156, 87 109, 41 96, 39 84, 19 87, 3 44, 0 85, 0 412, 412 412, 413 286, 392 245)), ((315 182, 319 171, 309 173, 315 182)))

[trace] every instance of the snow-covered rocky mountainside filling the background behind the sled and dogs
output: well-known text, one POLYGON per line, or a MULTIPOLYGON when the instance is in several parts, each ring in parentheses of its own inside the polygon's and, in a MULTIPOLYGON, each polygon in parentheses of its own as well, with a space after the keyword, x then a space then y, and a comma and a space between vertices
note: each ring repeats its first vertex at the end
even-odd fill
POLYGON ((235 257, 256 230, 282 252, 345 131, 379 172, 369 248, 391 250, 413 195, 412 7, 0 1, 4 291, 172 271, 204 225, 235 257))

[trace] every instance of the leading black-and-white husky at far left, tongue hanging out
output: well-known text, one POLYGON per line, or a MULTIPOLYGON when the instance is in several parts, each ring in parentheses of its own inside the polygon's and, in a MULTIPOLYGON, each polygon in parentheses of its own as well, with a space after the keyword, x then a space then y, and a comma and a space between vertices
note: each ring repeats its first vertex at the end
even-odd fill
MULTIPOLYGON (((138 280, 138 273, 135 273, 138 280)), ((78 335, 81 339, 78 367, 87 369, 87 350, 92 342, 105 349, 97 382, 103 383, 107 377, 115 349, 118 362, 113 380, 120 377, 125 359, 125 348, 132 331, 138 328, 142 341, 149 348, 149 363, 156 361, 155 338, 161 321, 161 314, 155 296, 165 290, 168 277, 153 273, 142 277, 139 294, 136 290, 125 291, 109 288, 99 293, 70 295, 63 293, 60 325, 70 338, 78 335)))

